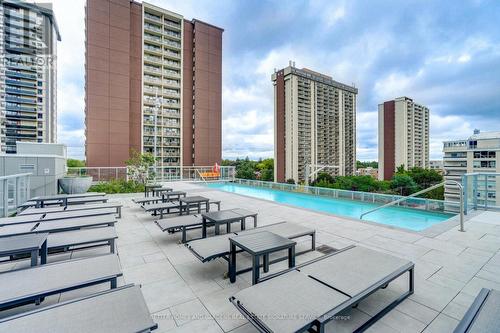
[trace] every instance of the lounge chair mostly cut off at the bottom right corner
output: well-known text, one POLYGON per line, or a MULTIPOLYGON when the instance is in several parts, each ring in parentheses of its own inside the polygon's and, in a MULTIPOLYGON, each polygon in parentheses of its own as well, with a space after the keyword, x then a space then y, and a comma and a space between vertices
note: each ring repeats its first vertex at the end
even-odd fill
POLYGON ((500 291, 481 289, 453 332, 500 332, 500 291))

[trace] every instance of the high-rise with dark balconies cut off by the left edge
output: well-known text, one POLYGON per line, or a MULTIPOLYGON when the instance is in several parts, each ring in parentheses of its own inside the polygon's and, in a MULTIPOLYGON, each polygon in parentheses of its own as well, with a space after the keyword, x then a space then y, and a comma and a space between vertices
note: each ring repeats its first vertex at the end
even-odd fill
POLYGON ((57 41, 51 5, 0 1, 1 151, 57 140, 57 41))

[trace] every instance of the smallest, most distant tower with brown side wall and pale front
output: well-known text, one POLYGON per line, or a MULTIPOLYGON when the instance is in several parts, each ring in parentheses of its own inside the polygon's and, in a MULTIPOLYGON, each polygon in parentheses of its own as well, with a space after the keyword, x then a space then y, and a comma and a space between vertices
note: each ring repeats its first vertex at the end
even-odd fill
POLYGON ((429 168, 429 109, 408 97, 378 106, 378 178, 400 166, 429 168))

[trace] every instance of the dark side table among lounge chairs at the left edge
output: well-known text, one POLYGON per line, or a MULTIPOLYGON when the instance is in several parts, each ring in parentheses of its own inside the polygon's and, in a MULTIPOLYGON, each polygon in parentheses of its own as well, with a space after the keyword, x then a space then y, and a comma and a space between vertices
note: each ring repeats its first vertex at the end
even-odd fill
POLYGON ((48 233, 38 233, 0 238, 0 257, 30 253, 31 266, 36 266, 40 253, 40 262, 46 264, 48 235, 48 233))

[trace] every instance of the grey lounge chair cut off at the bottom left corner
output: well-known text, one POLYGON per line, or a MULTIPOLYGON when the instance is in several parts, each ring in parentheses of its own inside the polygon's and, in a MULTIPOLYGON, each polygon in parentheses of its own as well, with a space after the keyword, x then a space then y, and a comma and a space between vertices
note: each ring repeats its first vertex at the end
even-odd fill
POLYGON ((150 332, 151 319, 141 289, 126 285, 0 319, 2 332, 150 332))

